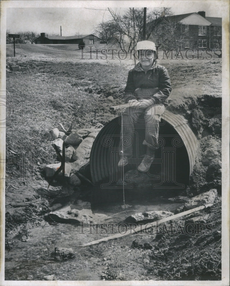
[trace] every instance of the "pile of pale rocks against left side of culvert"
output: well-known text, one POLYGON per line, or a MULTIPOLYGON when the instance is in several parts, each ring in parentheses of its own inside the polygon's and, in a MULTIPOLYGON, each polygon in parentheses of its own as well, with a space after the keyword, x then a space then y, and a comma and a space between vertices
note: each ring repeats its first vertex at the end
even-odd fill
MULTIPOLYGON (((93 141, 101 128, 101 126, 96 126, 72 132, 63 132, 54 128, 46 132, 46 136, 53 139, 52 146, 56 146, 61 155, 63 142, 65 142, 65 177, 69 179, 71 185, 79 186, 81 184, 76 172, 89 164, 93 141)), ((57 160, 60 161, 59 156, 57 156, 57 160)), ((61 163, 46 165, 44 167, 46 178, 50 179, 60 166, 61 163)), ((62 176, 62 172, 58 176, 62 176)))

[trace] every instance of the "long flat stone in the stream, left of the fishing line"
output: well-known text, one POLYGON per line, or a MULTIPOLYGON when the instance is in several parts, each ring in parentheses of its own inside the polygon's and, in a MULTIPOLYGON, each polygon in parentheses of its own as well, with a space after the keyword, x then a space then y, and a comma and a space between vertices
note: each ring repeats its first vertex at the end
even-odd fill
POLYGON ((111 222, 112 217, 104 214, 93 213, 91 209, 83 208, 81 210, 71 209, 70 206, 66 206, 61 210, 50 212, 44 216, 46 221, 55 221, 57 223, 72 223, 80 225, 81 221, 84 221, 84 225, 89 225, 89 221, 93 223, 111 222))

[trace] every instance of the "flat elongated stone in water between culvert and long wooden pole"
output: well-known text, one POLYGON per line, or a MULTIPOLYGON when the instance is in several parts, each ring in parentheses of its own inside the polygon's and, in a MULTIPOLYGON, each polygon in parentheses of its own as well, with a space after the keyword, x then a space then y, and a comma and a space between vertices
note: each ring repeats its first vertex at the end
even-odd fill
POLYGON ((125 222, 140 223, 140 222, 148 222, 148 221, 159 221, 166 217, 170 217, 171 215, 174 215, 174 213, 169 212, 169 211, 164 211, 164 210, 150 210, 146 212, 139 212, 139 213, 133 214, 127 217, 127 219, 125 219, 125 222))

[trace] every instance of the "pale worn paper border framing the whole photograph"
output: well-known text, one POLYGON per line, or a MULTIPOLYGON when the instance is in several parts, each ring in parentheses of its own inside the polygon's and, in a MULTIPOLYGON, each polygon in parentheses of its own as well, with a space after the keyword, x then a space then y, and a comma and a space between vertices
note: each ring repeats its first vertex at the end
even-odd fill
MULTIPOLYGON (((6 93, 6 10, 7 7, 180 7, 191 5, 193 10, 199 10, 199 3, 203 0, 163 0, 163 1, 1 1, 1 95, 6 93), (182 2, 186 2, 182 3, 182 2), (194 8, 195 7, 195 8, 194 8)), ((207 0, 207 5, 223 11, 222 16, 222 279, 221 281, 5 281, 5 181, 0 180, 1 200, 1 277, 0 285, 229 285, 229 4, 228 0, 207 0)), ((6 96, 6 94, 5 94, 6 96)), ((0 120, 6 117, 6 111, 1 107, 0 120)), ((1 150, 0 159, 5 160, 5 128, 0 128, 1 150)), ((0 164, 0 176, 5 176, 5 164, 0 164)))

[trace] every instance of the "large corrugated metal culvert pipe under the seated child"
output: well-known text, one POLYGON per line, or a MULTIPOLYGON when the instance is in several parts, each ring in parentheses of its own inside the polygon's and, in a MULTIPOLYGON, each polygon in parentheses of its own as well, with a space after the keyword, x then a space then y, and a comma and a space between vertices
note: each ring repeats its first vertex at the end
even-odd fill
MULTIPOLYGON (((138 173, 137 166, 146 150, 142 144, 144 126, 137 129, 137 138, 132 143, 136 155, 132 162, 125 166, 125 173, 129 170, 133 170, 133 173, 130 173, 130 184, 125 184, 125 188, 132 188, 132 180, 137 182, 143 175, 138 173)), ((101 189, 121 188, 119 183, 123 180, 122 168, 117 167, 122 150, 120 130, 121 117, 119 116, 101 129, 91 149, 91 177, 94 184, 101 184, 101 189)), ((182 116, 166 110, 160 122, 158 144, 159 148, 148 172, 148 177, 152 179, 151 188, 184 190, 189 184, 195 164, 196 136, 182 116)))

